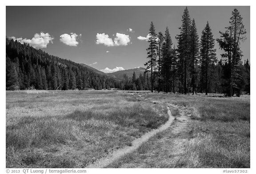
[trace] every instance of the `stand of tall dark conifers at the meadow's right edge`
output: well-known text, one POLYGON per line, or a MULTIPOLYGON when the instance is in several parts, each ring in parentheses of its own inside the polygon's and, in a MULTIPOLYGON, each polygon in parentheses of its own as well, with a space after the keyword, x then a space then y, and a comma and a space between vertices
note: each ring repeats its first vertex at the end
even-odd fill
POLYGON ((241 61, 240 50, 246 30, 237 9, 232 12, 226 31, 220 31, 220 38, 214 38, 206 21, 199 39, 195 19, 191 20, 187 7, 179 29, 175 47, 168 27, 164 35, 157 35, 154 24, 150 24, 145 66, 151 71, 152 92, 225 93, 229 97, 250 93, 250 64, 248 59, 241 61), (225 52, 220 60, 216 57, 217 46, 225 52))

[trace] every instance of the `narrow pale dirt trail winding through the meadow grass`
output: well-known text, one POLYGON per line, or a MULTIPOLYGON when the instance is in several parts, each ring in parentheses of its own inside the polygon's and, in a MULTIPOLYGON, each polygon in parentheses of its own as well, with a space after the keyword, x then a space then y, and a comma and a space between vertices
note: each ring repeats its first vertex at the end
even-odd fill
POLYGON ((142 135, 140 138, 135 139, 132 142, 131 147, 124 147, 122 149, 118 149, 118 150, 114 151, 111 155, 108 155, 108 157, 99 159, 95 163, 87 166, 86 168, 104 168, 104 167, 108 166, 109 164, 111 164, 112 162, 116 161, 117 159, 120 159, 124 155, 135 151, 136 149, 138 149, 140 147, 140 145, 142 143, 148 141, 148 139, 150 139, 152 136, 154 136, 158 132, 164 131, 170 127, 170 125, 172 124, 172 121, 174 120, 174 116, 172 116, 169 108, 168 108, 168 116, 169 116, 169 119, 165 124, 163 124, 160 128, 152 130, 152 131, 142 135))

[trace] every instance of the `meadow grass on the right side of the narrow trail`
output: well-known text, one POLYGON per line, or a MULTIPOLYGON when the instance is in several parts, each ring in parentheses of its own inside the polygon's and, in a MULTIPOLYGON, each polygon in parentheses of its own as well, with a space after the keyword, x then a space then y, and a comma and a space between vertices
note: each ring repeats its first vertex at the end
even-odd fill
MULTIPOLYGON (((175 128, 159 133, 108 168, 250 168, 250 96, 147 97, 175 104, 188 124, 178 133, 175 128)), ((180 115, 176 108, 172 112, 180 115)), ((177 120, 176 127, 183 121, 177 120)))

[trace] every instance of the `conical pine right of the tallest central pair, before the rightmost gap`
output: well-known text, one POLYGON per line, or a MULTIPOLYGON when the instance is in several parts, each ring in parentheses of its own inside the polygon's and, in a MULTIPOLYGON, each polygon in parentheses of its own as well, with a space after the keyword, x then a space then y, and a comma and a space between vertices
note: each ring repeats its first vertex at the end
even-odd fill
POLYGON ((205 95, 208 95, 209 71, 210 66, 217 62, 216 49, 214 49, 212 30, 207 21, 206 27, 202 31, 200 56, 202 58, 201 67, 203 77, 205 77, 205 95))

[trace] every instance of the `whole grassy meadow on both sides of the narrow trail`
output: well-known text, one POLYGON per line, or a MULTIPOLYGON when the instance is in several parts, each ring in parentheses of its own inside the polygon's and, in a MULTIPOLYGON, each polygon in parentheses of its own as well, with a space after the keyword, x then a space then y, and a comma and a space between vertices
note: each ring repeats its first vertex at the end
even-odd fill
POLYGON ((86 167, 164 124, 169 104, 171 128, 109 168, 250 167, 250 96, 103 90, 6 91, 6 167, 86 167))

